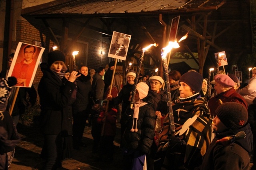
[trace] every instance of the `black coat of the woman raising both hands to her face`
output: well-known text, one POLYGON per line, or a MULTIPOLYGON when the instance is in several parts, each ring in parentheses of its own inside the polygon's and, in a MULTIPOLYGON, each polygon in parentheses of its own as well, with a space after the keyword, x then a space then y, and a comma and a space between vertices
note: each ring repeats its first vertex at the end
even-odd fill
POLYGON ((69 127, 68 104, 76 85, 60 79, 55 72, 41 64, 43 76, 38 85, 41 113, 40 126, 43 134, 67 136, 69 127))

